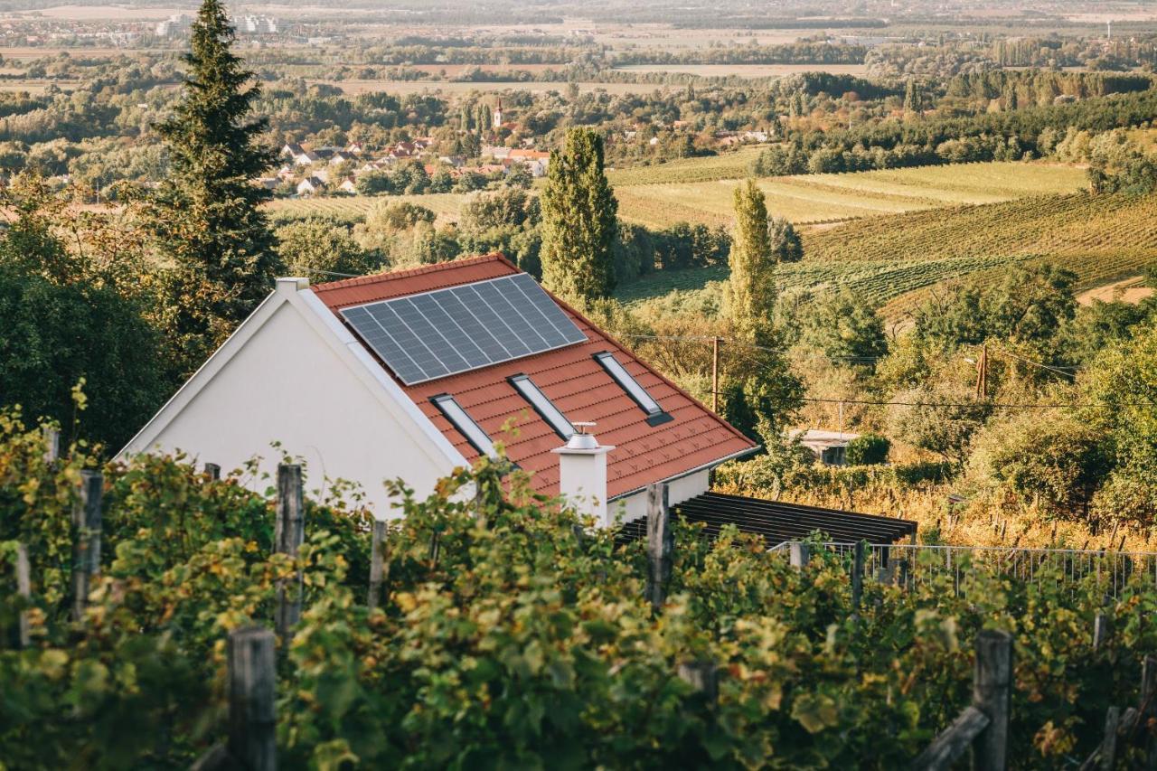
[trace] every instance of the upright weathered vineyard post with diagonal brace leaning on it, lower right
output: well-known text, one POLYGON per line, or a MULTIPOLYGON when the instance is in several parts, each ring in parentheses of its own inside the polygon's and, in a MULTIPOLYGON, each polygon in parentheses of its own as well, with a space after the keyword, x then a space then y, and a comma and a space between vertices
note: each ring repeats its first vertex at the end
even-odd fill
POLYGON ((1012 708, 1012 636, 1008 632, 985 630, 977 636, 972 704, 988 715, 989 721, 972 746, 972 766, 1004 771, 1012 708))

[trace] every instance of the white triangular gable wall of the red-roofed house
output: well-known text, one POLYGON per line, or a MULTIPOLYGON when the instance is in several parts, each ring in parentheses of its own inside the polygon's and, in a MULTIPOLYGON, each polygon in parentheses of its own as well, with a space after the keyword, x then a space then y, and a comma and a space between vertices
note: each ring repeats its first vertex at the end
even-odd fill
POLYGON ((317 308, 301 298, 277 303, 248 339, 230 340, 236 350, 223 365, 198 373, 189 392, 162 410, 155 419, 162 424, 159 432, 146 427, 123 455, 184 450, 198 463, 218 463, 223 470, 261 456, 260 471, 271 476, 251 485, 264 492, 275 484, 283 450, 305 465, 311 495, 326 485, 326 477, 348 479, 362 486, 375 515, 396 516, 383 479, 405 479, 426 495, 454 468, 454 458, 448 445, 437 446, 436 429, 432 441, 430 427, 415 426, 407 417, 406 410, 415 409, 407 397, 398 389, 390 395, 375 380, 369 369, 377 365, 359 359, 349 340, 340 338, 344 331, 319 320, 317 308), (406 404, 397 403, 399 394, 406 404), (273 442, 280 442, 280 450, 273 442))

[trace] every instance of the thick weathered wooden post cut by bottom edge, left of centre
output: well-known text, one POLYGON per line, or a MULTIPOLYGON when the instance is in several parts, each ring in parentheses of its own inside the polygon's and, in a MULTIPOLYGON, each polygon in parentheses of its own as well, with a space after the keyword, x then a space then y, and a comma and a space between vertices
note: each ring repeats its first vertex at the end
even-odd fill
POLYGON ((273 632, 245 626, 229 633, 229 755, 249 771, 278 768, 273 632))

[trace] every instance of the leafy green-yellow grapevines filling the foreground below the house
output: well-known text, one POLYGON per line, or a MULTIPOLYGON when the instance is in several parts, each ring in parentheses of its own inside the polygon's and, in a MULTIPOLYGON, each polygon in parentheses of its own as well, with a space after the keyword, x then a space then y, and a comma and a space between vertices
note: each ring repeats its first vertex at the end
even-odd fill
POLYGON ((1151 741, 1157 593, 1140 573, 1117 589, 1042 560, 1033 581, 857 582, 821 550, 793 565, 676 523, 666 579, 647 544, 498 465, 406 499, 374 528, 378 560, 363 513, 300 498, 300 467, 266 500, 244 469, 102 476, 64 455, 0 416, 6 768, 219 752, 245 718, 224 640, 263 636, 270 722, 253 727, 282 768, 906 768, 970 704, 982 630, 1015 641, 1011 768, 1078 764, 1111 706, 1141 704, 1134 743, 1151 741), (1095 646, 1095 629, 1113 633, 1095 646))

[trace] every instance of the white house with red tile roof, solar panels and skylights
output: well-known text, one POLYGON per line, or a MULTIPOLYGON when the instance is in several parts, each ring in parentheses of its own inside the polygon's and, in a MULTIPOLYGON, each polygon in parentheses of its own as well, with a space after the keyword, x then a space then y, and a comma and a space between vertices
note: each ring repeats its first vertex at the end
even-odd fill
POLYGON ((710 469, 756 449, 488 255, 315 287, 279 279, 121 456, 184 450, 236 468, 264 455, 272 471, 280 442, 307 462, 311 486, 360 483, 385 516, 384 479, 428 494, 496 441, 537 491, 590 497, 591 513, 628 520, 644 513, 648 484, 668 483, 678 504, 707 492, 710 469), (503 434, 508 424, 517 436, 503 434))

